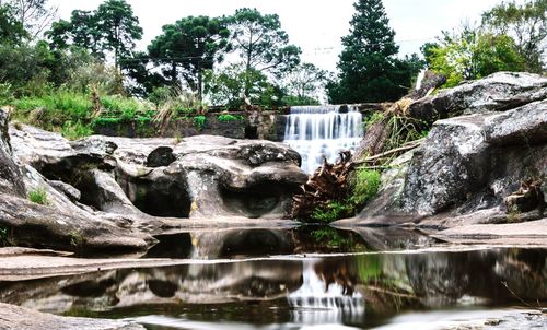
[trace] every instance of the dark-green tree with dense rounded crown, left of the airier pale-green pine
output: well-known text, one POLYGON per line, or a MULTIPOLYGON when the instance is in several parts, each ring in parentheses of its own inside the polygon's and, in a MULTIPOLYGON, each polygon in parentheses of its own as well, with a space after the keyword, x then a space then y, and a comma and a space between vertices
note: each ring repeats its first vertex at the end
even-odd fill
POLYGON ((212 70, 229 49, 228 31, 220 19, 189 16, 163 26, 163 34, 148 47, 151 59, 166 68, 164 75, 173 85, 182 78, 199 101, 203 94, 203 72, 212 70))

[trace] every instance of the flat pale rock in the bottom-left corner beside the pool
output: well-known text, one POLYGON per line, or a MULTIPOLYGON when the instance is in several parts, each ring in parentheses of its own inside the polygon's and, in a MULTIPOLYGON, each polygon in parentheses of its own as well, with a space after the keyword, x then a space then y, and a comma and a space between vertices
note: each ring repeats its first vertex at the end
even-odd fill
POLYGON ((60 317, 0 303, 2 316, 0 329, 89 329, 89 330, 143 330, 144 327, 130 321, 91 318, 60 317))

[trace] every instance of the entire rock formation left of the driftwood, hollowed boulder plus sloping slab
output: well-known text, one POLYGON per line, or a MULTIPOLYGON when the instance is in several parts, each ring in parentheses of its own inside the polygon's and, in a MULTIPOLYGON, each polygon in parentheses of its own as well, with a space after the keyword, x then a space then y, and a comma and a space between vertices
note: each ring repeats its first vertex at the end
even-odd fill
POLYGON ((149 248, 165 226, 279 220, 307 179, 296 152, 268 141, 71 142, 31 126, 8 130, 4 110, 0 132, 0 228, 19 246, 125 252, 149 248))

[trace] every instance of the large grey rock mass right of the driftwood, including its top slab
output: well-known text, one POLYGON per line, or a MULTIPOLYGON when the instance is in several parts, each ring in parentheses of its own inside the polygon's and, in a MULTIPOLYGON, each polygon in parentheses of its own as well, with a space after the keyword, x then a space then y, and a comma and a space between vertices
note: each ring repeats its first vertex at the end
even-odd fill
POLYGON ((544 219, 546 97, 547 78, 501 72, 415 101, 410 116, 450 118, 396 158, 379 196, 340 225, 444 229, 544 219))

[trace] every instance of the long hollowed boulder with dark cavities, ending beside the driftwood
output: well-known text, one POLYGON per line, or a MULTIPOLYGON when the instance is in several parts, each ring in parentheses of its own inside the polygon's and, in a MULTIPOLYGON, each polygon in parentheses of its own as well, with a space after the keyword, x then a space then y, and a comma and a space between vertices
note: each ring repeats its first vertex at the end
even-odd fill
POLYGON ((267 141, 199 135, 176 145, 172 139, 106 137, 68 142, 26 126, 12 129, 12 140, 22 162, 79 189, 83 204, 136 225, 156 217, 281 219, 307 179, 296 152, 267 141), (48 139, 54 150, 47 150, 48 139))

